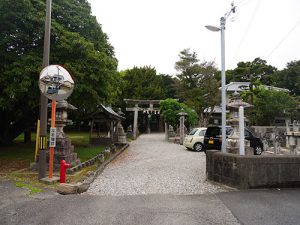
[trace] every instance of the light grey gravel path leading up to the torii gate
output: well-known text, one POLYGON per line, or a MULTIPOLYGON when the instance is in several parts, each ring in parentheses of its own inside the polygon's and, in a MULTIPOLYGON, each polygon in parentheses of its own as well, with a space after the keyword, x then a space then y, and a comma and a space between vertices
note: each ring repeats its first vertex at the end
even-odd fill
POLYGON ((228 191, 206 181, 205 154, 166 142, 164 134, 141 135, 91 184, 88 194, 205 194, 228 191))

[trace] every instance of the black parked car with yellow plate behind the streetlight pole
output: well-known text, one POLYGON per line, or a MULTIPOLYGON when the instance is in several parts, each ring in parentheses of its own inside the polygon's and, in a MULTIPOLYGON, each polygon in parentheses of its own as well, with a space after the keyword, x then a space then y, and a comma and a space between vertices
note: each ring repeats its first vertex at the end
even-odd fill
MULTIPOLYGON (((226 136, 228 137, 233 128, 226 126, 226 136)), ((254 155, 261 155, 263 152, 263 142, 260 138, 256 137, 248 128, 245 128, 245 139, 250 141, 250 147, 253 148, 254 155)), ((211 126, 208 127, 204 136, 204 148, 221 150, 222 146, 222 127, 211 126)))

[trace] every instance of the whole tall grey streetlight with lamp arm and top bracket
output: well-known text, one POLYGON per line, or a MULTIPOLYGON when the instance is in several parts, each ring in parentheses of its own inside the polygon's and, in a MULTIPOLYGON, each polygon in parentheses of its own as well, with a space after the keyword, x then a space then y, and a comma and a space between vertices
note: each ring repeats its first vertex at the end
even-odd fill
POLYGON ((225 76, 225 24, 226 19, 229 17, 231 12, 235 13, 235 6, 231 4, 231 9, 225 16, 220 19, 220 27, 205 26, 208 30, 218 32, 221 31, 221 105, 222 105, 222 147, 221 151, 226 152, 226 76, 225 76))

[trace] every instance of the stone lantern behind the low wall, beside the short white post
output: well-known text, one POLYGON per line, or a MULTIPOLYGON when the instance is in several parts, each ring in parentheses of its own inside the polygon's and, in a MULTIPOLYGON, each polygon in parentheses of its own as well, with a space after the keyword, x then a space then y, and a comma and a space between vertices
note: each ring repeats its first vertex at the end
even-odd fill
MULTIPOLYGON (((237 154, 239 151, 239 108, 242 106, 243 108, 252 107, 251 104, 247 102, 243 102, 240 94, 235 91, 232 95, 231 101, 227 104, 230 111, 230 118, 228 120, 229 124, 233 127, 233 132, 228 136, 227 140, 227 152, 237 154)), ((247 119, 245 118, 245 121, 247 119)), ((245 148, 250 148, 249 141, 245 140, 245 148)), ((247 151, 246 151, 247 152, 247 151)))

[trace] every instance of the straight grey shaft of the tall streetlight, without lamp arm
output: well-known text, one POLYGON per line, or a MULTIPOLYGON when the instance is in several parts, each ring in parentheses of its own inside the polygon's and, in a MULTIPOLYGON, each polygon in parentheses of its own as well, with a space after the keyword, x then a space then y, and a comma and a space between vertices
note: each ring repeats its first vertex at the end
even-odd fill
POLYGON ((226 152, 226 77, 225 77, 225 23, 226 19, 221 17, 220 29, 221 29, 221 64, 222 64, 222 148, 223 153, 226 152))

